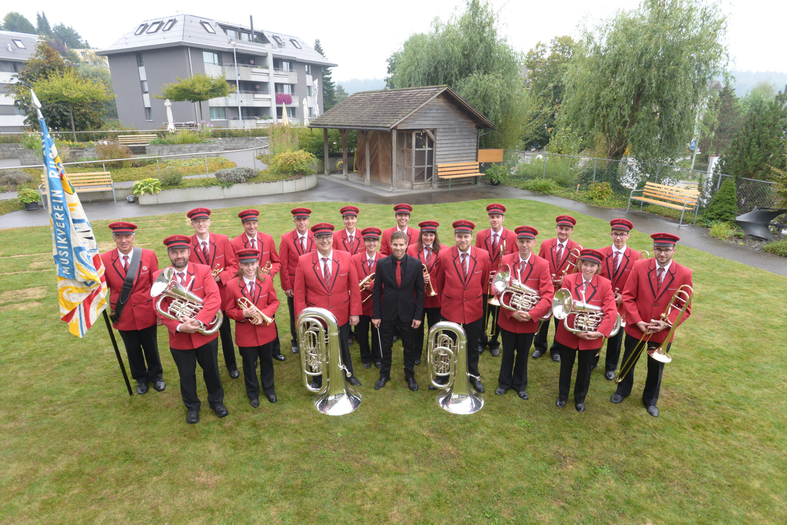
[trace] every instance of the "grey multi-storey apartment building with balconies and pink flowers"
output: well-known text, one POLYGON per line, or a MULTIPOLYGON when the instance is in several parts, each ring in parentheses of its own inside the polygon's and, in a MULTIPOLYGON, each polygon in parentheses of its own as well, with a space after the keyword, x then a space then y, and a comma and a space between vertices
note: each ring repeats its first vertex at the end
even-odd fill
POLYGON ((167 123, 164 100, 153 94, 195 73, 224 74, 237 92, 203 102, 204 116, 198 104, 172 102, 176 123, 202 118, 215 127, 258 127, 283 112, 302 123, 323 108, 322 68, 337 65, 298 37, 188 14, 139 22, 97 54, 109 60, 120 122, 139 129, 167 123), (289 97, 277 104, 276 94, 289 97))

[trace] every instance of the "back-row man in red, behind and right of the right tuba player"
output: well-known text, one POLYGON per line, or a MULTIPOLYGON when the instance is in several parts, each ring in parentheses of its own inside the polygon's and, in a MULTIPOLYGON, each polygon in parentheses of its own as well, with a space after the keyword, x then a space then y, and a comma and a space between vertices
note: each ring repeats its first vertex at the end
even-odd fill
MULTIPOLYGON (((503 227, 505 220, 505 206, 503 204, 490 204, 486 207, 486 213, 489 215, 490 227, 476 233, 475 248, 489 251, 491 273, 496 274, 497 270, 500 270, 501 259, 504 255, 516 252, 516 236, 510 229, 503 227)), ((487 288, 489 288, 488 285, 487 288)), ((490 354, 497 357, 500 355, 500 343, 497 341, 497 336, 500 333, 500 326, 497 325, 500 307, 490 304, 489 299, 491 298, 492 295, 484 293, 483 317, 485 323, 487 318, 493 320, 490 332, 492 337, 487 338, 485 325, 478 337, 478 354, 483 354, 484 348, 489 345, 490 354)))

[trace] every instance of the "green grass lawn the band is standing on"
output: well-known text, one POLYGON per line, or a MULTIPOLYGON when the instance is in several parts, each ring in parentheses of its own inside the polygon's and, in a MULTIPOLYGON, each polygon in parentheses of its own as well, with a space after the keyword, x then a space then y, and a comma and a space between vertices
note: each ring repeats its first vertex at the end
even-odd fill
MULTIPOLYGON (((452 244, 452 219, 486 226, 490 202, 416 206, 411 223, 437 219, 452 244)), ((535 226, 541 240, 568 212, 503 202, 506 226, 535 226)), ((312 208, 312 222, 341 224, 345 203, 299 204, 312 208)), ((389 206, 358 205, 359 226, 393 226, 389 206)), ((260 207, 261 229, 278 241, 293 206, 260 207)), ((241 209, 214 211, 212 230, 241 233, 241 209)), ((608 223, 575 217, 580 244, 610 243, 608 223)), ((137 244, 160 265, 161 240, 191 231, 181 213, 133 220, 137 244)), ((113 247, 109 222, 92 223, 102 251, 113 247)), ((652 251, 642 233, 630 245, 652 251)), ((187 425, 166 331, 158 331, 166 391, 130 398, 103 321, 79 340, 59 320, 50 230, 0 230, 0 522, 787 523, 787 278, 686 247, 676 260, 694 270, 696 300, 664 369, 658 418, 641 404, 642 364, 621 405, 609 402, 615 387, 603 367, 594 370, 586 412, 577 413, 571 403, 556 408, 559 365, 548 358, 529 362, 530 400, 493 395, 500 358, 488 351, 486 405, 457 417, 427 390, 425 362, 416 367, 421 389, 408 391, 399 343, 380 391, 377 369, 364 369, 353 346, 363 402, 347 416, 323 416, 289 353, 283 306, 279 402, 251 408, 220 352, 230 415, 209 410, 200 379, 201 421, 187 425)))

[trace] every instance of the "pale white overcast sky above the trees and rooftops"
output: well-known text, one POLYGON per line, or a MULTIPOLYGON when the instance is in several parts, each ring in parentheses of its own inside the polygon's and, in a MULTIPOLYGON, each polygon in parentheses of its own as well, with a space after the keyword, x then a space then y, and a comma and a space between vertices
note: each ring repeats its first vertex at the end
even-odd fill
MULTIPOLYGON (((504 34, 519 50, 556 35, 577 35, 577 25, 606 17, 615 9, 637 6, 636 0, 560 0, 523 2, 494 0, 504 34)), ((79 31, 91 46, 106 47, 135 28, 140 20, 187 13, 235 24, 297 35, 307 42, 320 39, 327 57, 336 64, 334 79, 382 78, 386 58, 412 33, 427 31, 434 17, 449 17, 462 0, 296 0, 294 2, 101 2, 79 5, 62 0, 13 2, 13 9, 35 25, 35 10, 46 12, 50 24, 63 22, 79 31), (28 8, 29 6, 29 8, 28 8), (217 8, 216 6, 220 6, 217 8)), ((736 0, 724 4, 729 13, 731 68, 787 72, 784 0, 736 0)), ((2 11, 0 11, 2 13, 2 11)))

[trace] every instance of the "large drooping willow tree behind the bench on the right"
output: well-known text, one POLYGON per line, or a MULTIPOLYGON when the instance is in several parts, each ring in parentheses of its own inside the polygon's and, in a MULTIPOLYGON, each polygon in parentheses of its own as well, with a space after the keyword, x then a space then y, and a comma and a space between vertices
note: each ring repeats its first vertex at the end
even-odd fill
POLYGON ((708 83, 727 61, 718 3, 644 0, 586 30, 564 77, 572 127, 600 134, 608 159, 630 146, 669 160, 693 135, 708 83))

